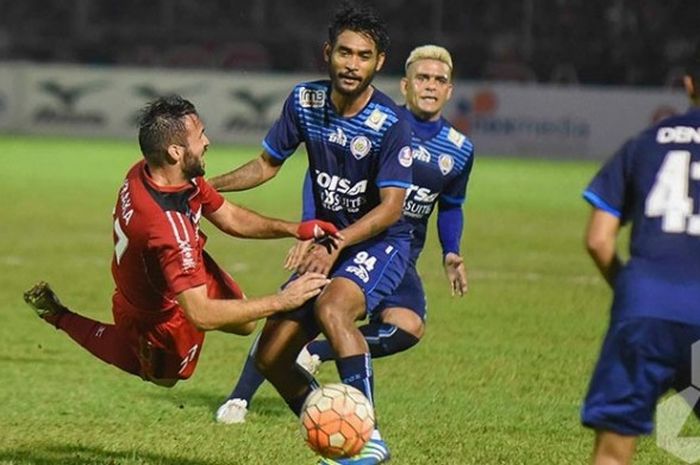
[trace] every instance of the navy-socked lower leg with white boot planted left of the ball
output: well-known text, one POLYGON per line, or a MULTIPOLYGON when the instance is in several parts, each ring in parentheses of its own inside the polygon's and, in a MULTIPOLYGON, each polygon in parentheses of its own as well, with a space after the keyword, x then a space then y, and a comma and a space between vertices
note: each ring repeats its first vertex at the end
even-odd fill
POLYGON ((258 367, 255 365, 255 352, 258 347, 259 339, 260 334, 256 336, 253 344, 250 346, 236 386, 233 388, 233 391, 231 391, 226 401, 216 411, 216 421, 219 423, 243 423, 248 413, 248 408, 253 401, 253 396, 262 383, 265 382, 265 377, 258 371, 258 367))

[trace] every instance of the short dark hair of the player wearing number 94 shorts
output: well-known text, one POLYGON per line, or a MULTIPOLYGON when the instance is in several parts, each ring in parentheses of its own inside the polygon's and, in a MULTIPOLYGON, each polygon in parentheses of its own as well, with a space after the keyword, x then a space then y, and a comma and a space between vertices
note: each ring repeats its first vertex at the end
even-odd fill
POLYGON ((347 30, 370 37, 379 53, 384 53, 389 48, 389 33, 386 22, 369 6, 344 3, 336 11, 333 20, 328 25, 328 42, 331 46, 335 45, 340 33, 347 30))

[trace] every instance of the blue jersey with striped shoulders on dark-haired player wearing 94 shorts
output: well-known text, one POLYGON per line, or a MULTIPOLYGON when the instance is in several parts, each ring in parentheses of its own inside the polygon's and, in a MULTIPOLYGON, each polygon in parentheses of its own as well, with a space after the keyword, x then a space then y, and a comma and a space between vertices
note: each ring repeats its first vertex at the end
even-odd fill
MULTIPOLYGON (((330 81, 297 85, 263 146, 284 161, 306 144, 316 217, 342 229, 379 205, 381 188, 411 186, 411 132, 394 102, 377 89, 351 118, 335 112, 330 95, 330 81)), ((408 237, 410 230, 401 219, 382 235, 408 237)))

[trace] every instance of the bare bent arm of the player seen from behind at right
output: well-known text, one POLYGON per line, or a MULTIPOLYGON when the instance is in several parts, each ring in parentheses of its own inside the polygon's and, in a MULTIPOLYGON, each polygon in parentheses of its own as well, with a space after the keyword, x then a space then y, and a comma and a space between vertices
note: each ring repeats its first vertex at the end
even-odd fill
POLYGON ((616 248, 619 231, 619 218, 604 210, 593 209, 586 229, 586 249, 610 287, 614 286, 622 267, 616 248))

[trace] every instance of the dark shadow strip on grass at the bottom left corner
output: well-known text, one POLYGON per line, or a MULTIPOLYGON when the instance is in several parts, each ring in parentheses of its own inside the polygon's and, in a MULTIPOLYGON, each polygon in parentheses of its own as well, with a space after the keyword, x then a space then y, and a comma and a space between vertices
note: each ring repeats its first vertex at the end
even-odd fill
POLYGON ((13 465, 220 465, 207 460, 154 454, 140 450, 107 451, 97 447, 36 445, 0 449, 0 463, 13 465))

